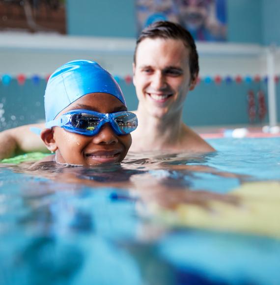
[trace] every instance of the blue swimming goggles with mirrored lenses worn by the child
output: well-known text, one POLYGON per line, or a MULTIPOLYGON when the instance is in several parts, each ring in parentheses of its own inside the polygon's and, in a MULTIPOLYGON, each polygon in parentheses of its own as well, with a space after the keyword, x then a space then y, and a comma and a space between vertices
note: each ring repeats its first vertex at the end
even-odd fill
POLYGON ((46 128, 58 126, 72 133, 94 136, 105 123, 110 123, 117 135, 126 135, 137 128, 138 120, 136 114, 128 111, 103 114, 88 110, 74 110, 47 122, 46 128))

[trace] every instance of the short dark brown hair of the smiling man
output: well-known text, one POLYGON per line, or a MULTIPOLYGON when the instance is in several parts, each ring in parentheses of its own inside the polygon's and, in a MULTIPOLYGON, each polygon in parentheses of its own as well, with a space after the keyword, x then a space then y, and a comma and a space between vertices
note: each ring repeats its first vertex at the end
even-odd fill
POLYGON ((163 39, 175 39, 181 40, 185 47, 190 51, 190 72, 192 76, 192 80, 194 80, 198 74, 199 66, 198 66, 198 54, 196 51, 195 40, 185 28, 180 26, 179 24, 175 24, 168 21, 159 21, 151 24, 147 28, 144 28, 139 38, 136 42, 136 47, 134 51, 134 64, 136 64, 136 53, 137 48, 140 42, 146 38, 163 38, 163 39))

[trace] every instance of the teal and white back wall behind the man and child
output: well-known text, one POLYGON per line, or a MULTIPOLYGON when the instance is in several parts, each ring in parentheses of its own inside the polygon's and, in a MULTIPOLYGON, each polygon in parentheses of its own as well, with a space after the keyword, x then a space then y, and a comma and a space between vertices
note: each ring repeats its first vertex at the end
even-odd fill
MULTIPOLYGON (((137 32, 135 17, 135 1, 130 0, 107 0, 89 1, 82 0, 79 3, 75 0, 66 1, 67 8, 67 32, 74 43, 78 43, 79 48, 67 44, 69 49, 52 49, 56 45, 56 40, 52 39, 52 44, 36 50, 31 39, 27 46, 21 50, 17 47, 10 47, 5 43, 0 44, 0 76, 10 74, 12 81, 9 85, 0 82, 0 130, 18 126, 44 119, 43 94, 46 85, 45 77, 55 70, 62 63, 77 58, 94 59, 100 62, 114 76, 120 77, 120 85, 126 96, 130 110, 137 108, 137 98, 132 83, 127 84, 124 80, 126 75, 132 75, 132 58, 137 32), (111 7, 111 9, 108 9, 111 7), (75 36, 78 36, 75 38, 75 36), (83 36, 83 37, 81 37, 83 36), (91 46, 87 46, 85 37, 100 43, 103 37, 119 40, 116 46, 125 48, 117 50, 115 53, 100 53, 95 51, 90 53, 91 46), (81 41, 79 42, 79 39, 81 41), (127 42, 125 41, 127 40, 127 42), (121 42, 123 44, 121 45, 121 42), (70 46, 70 47, 69 47, 70 46), (87 46, 87 49, 86 49, 87 46), (72 49, 71 49, 72 47, 72 49), (16 76, 25 74, 27 80, 24 85, 18 85, 16 76), (34 84, 30 79, 32 75, 38 74, 41 80, 34 84)), ((280 44, 280 27, 277 13, 280 3, 277 0, 228 0, 227 1, 227 21, 228 38, 224 44, 224 52, 234 49, 235 43, 240 43, 241 48, 246 51, 248 48, 259 49, 263 45, 272 43, 280 44), (248 16, 250 15, 250 16, 248 16), (252 45, 253 46, 250 46, 252 45), (231 46, 230 46, 231 45, 231 46)), ((0 35, 1 36, 1 35, 0 35)), ((66 36, 67 37, 67 36, 66 36)), ((15 37, 16 40, 17 37, 15 37)), ((2 41, 0 38, 0 42, 2 41)), ((45 39, 48 41, 48 39, 45 39)), ((65 39, 62 38, 62 41, 65 39)), ((24 40, 20 40, 24 46, 24 40)), ((41 39, 40 39, 41 41, 41 39)), ((203 50, 203 44, 198 44, 198 51, 203 50)), ((106 43, 103 45, 106 46, 106 43)), ((214 49, 219 46, 215 46, 214 49)), ((204 125, 226 125, 226 124, 247 124, 249 123, 247 94, 250 89, 255 93, 263 90, 267 96, 267 85, 264 82, 266 76, 265 58, 259 60, 258 55, 244 56, 244 54, 227 55, 226 58, 219 55, 207 56, 205 52, 199 52, 201 82, 196 89, 188 94, 185 103, 183 119, 192 126, 204 125), (261 82, 251 83, 234 81, 237 75, 243 79, 246 76, 261 75, 261 82), (228 84, 225 80, 221 84, 213 82, 216 75, 221 75, 223 79, 227 75, 231 76, 233 82, 228 84), (212 78, 211 83, 204 82, 205 77, 212 78)), ((280 58, 276 60, 276 73, 280 74, 280 58)), ((277 109, 280 110, 280 90, 277 84, 277 109)), ((267 98, 266 98, 266 105, 267 98)), ((278 112, 280 113, 280 112, 278 112)), ((278 121, 280 115, 278 115, 278 121)), ((268 116, 263 123, 267 123, 268 116)), ((256 118, 256 123, 259 119, 256 118)))

